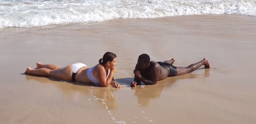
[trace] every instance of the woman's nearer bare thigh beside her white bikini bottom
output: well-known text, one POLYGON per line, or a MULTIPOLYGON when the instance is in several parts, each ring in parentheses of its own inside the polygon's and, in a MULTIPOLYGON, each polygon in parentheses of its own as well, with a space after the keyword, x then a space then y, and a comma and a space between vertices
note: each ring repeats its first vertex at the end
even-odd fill
POLYGON ((73 68, 72 65, 68 65, 64 68, 50 70, 50 76, 57 79, 72 80, 73 68))

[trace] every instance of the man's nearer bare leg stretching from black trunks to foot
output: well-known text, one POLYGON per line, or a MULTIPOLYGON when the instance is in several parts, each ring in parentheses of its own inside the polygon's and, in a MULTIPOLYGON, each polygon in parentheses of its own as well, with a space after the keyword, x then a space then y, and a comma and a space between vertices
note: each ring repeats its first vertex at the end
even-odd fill
POLYGON ((188 67, 176 67, 177 68, 177 76, 183 75, 186 73, 191 73, 194 70, 197 70, 200 66, 204 65, 204 68, 210 68, 209 62, 206 58, 202 61, 197 62, 195 64, 191 64, 188 67))

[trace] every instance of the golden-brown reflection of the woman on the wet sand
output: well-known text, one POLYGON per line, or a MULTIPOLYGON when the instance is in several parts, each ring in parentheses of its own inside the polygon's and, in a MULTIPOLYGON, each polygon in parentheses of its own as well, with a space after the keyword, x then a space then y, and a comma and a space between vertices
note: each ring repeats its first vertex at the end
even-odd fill
POLYGON ((66 82, 53 78, 37 77, 25 75, 27 81, 35 80, 40 83, 54 85, 67 96, 70 101, 79 101, 79 98, 84 96, 89 97, 88 101, 96 101, 97 104, 107 110, 117 108, 116 96, 114 91, 119 90, 114 87, 97 87, 93 84, 84 84, 76 82, 66 82))

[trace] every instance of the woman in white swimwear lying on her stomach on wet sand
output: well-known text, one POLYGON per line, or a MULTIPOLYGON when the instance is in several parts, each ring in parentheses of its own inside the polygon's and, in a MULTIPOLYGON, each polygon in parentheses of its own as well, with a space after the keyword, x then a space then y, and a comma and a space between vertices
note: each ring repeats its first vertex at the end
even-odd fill
POLYGON ((99 59, 99 64, 88 67, 83 63, 75 63, 60 68, 58 65, 36 63, 37 68, 31 69, 28 67, 26 74, 35 76, 50 76, 57 79, 63 79, 73 82, 94 83, 102 87, 113 85, 116 88, 122 88, 121 85, 114 81, 116 73, 116 54, 106 52, 102 59, 99 59))

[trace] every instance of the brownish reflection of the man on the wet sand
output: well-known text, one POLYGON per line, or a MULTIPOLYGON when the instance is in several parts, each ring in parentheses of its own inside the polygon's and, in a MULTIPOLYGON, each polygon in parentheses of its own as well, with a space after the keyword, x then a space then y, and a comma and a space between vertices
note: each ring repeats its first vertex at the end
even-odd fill
POLYGON ((137 85, 135 88, 135 96, 138 97, 138 104, 148 106, 151 99, 156 99, 161 96, 165 87, 171 87, 173 83, 181 79, 195 79, 209 76, 209 69, 205 69, 204 74, 189 73, 182 76, 169 77, 156 85, 137 85))

